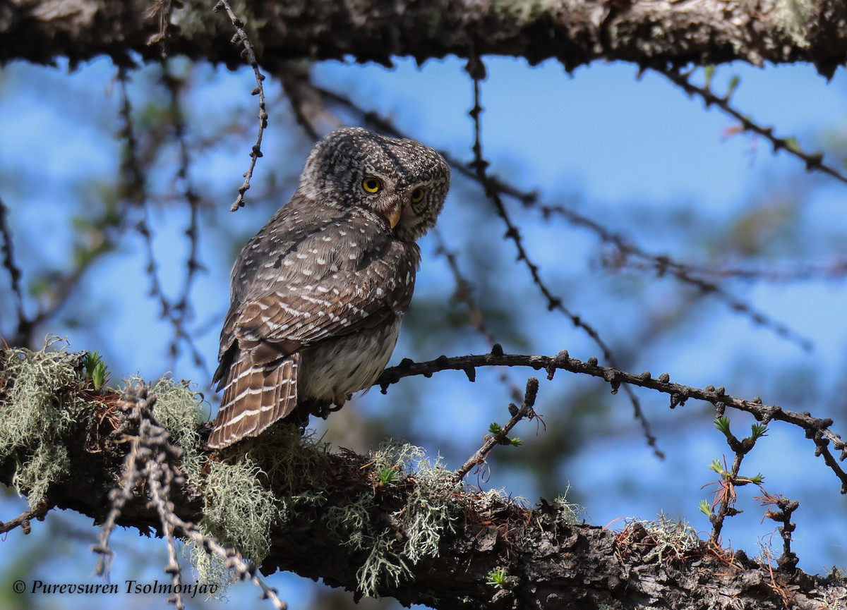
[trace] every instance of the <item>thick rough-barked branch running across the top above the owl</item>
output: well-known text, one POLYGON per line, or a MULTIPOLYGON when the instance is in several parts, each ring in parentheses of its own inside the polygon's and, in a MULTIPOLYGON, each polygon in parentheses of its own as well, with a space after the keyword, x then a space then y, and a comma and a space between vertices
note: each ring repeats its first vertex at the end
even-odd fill
MULTIPOLYGON (((4 0, 0 62, 126 63, 182 54, 243 63, 233 27, 212 2, 4 0), (168 25, 169 24, 169 25, 168 25)), ((596 59, 641 65, 742 60, 813 62, 832 74, 847 59, 843 0, 257 0, 233 3, 260 62, 337 59, 390 63, 497 54, 570 70, 596 59)))

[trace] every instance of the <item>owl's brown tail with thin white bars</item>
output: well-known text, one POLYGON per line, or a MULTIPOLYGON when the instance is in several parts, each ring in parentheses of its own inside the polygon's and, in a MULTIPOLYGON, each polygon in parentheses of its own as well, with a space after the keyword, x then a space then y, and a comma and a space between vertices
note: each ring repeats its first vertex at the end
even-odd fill
POLYGON ((297 405, 297 361, 290 354, 266 365, 252 363, 239 352, 226 373, 224 398, 209 435, 208 446, 228 447, 244 437, 256 437, 291 413, 297 405))

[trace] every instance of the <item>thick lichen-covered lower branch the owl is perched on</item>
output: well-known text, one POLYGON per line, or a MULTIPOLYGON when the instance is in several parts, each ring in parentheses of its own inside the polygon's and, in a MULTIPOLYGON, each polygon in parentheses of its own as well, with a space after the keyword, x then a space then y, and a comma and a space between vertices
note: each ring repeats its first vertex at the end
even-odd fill
MULTIPOLYGON (((0 425, 19 418, 19 384, 30 374, 20 363, 43 367, 55 360, 81 359, 0 352, 0 425)), ((367 456, 335 453, 278 426, 237 451, 210 454, 202 449, 208 425, 198 423, 196 398, 187 387, 136 380, 126 393, 94 391, 79 365, 64 371, 75 375, 52 384, 42 378, 42 409, 29 416, 30 424, 45 418, 67 422, 51 424, 47 435, 68 459, 47 485, 40 481, 41 501, 96 523, 181 536, 223 557, 224 567, 242 577, 257 578, 255 569, 285 570, 355 596, 392 596, 446 609, 593 610, 662 598, 666 607, 720 608, 733 600, 769 610, 783 607, 784 591, 791 591, 792 607, 802 610, 847 595, 837 579, 773 571, 743 553, 677 541, 678 528, 630 524, 616 532, 574 524, 573 510, 558 500, 529 508, 501 492, 470 491, 456 473, 408 445, 388 443, 367 456), (45 387, 53 388, 52 396, 43 393, 45 387), (75 416, 68 420, 64 415, 70 413, 75 416), (209 475, 212 468, 229 479, 209 475), (133 481, 130 470, 140 477, 133 481), (396 475, 385 476, 389 470, 396 475), (242 508, 244 514, 212 510, 215 502, 236 506, 245 493, 260 499, 242 508), (265 502, 267 510, 250 513, 265 502), (266 547, 247 544, 247 530, 255 534, 257 526, 264 528, 258 533, 266 547), (244 553, 227 545, 251 548, 253 557, 244 559, 253 562, 239 568, 244 553), (504 574, 498 586, 490 584, 495 573, 504 574)), ((0 436, 0 481, 31 494, 17 473, 37 449, 11 439, 0 436)), ((166 571, 174 575, 179 567, 173 552, 170 557, 166 571)))

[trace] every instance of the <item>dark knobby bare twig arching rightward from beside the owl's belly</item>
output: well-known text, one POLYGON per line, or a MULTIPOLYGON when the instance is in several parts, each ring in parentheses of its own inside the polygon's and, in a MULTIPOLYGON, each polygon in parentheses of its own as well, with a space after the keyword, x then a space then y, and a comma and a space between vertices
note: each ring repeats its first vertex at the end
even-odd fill
POLYGON ((556 371, 570 371, 604 379, 612 386, 612 393, 616 393, 622 384, 627 384, 647 387, 657 392, 669 394, 672 409, 685 404, 689 398, 695 398, 713 404, 719 416, 723 415, 727 407, 730 407, 750 413, 763 424, 778 420, 799 426, 805 431, 805 436, 811 438, 815 443, 815 454, 822 456, 824 462, 838 476, 841 481, 841 493, 847 493, 847 472, 839 464, 847 459, 847 444, 838 434, 829 429, 829 426, 833 425, 833 420, 814 417, 807 412, 795 413, 776 404, 762 404, 761 398, 753 398, 752 400, 734 398, 729 396, 723 387, 716 388, 709 385, 700 389, 672 383, 667 373, 662 373, 658 377, 651 376, 649 371, 635 375, 619 371, 611 366, 600 366, 597 364, 596 358, 590 358, 585 362, 571 358, 564 350, 555 356, 504 354, 501 346, 495 345, 490 354, 474 354, 454 358, 440 356, 427 362, 414 362, 406 358, 399 365, 386 369, 374 385, 381 387, 383 393, 385 393, 392 383, 398 382, 403 377, 431 376, 439 371, 463 371, 468 375, 468 378, 473 378, 476 375, 476 368, 479 366, 529 366, 536 371, 545 369, 548 379, 552 379, 556 371), (830 451, 830 445, 832 445, 834 451, 840 452, 838 457, 830 451))

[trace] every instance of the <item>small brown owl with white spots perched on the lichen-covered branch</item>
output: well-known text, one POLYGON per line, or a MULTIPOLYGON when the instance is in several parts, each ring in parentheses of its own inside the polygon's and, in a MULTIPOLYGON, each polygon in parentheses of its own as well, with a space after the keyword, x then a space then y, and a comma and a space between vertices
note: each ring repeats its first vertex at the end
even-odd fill
POLYGON ((374 383, 412 300, 417 239, 449 186, 444 158, 414 140, 346 128, 314 146, 291 200, 232 268, 210 448, 298 405, 326 416, 374 383))

